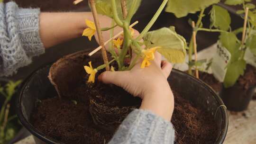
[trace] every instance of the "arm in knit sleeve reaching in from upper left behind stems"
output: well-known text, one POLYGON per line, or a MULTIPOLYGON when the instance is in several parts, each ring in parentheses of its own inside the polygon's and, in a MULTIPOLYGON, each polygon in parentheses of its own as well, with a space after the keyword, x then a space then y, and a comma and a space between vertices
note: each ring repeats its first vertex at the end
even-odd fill
MULTIPOLYGON (((101 27, 110 27, 109 18, 99 17, 104 21, 101 27)), ((87 12, 40 13, 40 9, 19 9, 14 2, 0 3, 0 76, 17 72, 33 56, 44 54, 45 48, 82 36, 86 18, 93 19, 87 12)))

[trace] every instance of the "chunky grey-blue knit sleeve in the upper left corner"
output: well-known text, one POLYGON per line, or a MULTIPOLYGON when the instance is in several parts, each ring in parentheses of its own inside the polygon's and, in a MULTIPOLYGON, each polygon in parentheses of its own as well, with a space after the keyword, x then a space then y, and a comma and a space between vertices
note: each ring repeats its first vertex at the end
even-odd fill
POLYGON ((19 9, 14 2, 0 3, 0 76, 16 73, 45 52, 39 36, 40 9, 19 9))

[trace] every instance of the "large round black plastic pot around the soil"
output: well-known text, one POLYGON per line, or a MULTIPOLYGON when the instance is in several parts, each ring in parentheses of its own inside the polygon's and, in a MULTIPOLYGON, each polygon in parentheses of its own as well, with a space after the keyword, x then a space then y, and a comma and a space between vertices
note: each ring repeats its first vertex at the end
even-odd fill
MULTIPOLYGON (((36 107, 37 99, 50 98, 56 96, 57 92, 48 80, 50 65, 34 72, 23 85, 17 99, 17 114, 28 131, 34 136, 36 144, 62 144, 45 134, 39 132, 30 123, 31 113, 36 107)), ((222 144, 228 130, 228 115, 219 96, 209 88, 204 82, 199 81, 188 74, 173 70, 168 78, 172 88, 181 94, 185 99, 189 99, 195 104, 209 111, 212 117, 216 114, 218 136, 215 144, 222 144)))

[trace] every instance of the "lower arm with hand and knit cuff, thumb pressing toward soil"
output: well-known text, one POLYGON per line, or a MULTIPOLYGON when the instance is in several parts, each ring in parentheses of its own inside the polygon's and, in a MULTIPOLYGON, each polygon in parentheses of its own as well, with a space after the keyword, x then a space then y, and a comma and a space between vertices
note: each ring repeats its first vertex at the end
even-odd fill
POLYGON ((159 53, 149 67, 141 69, 140 64, 141 61, 131 71, 103 72, 99 76, 104 83, 118 85, 142 99, 141 107, 128 115, 109 144, 173 144, 170 120, 174 96, 167 81, 172 65, 161 63, 159 53))

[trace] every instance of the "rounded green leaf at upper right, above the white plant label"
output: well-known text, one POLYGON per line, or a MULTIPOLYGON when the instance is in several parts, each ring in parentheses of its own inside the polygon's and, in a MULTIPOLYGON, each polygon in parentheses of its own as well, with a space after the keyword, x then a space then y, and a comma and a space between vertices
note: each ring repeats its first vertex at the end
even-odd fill
POLYGON ((229 11, 217 5, 213 5, 210 12, 210 21, 211 27, 228 30, 231 23, 229 11))

